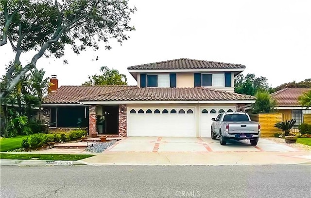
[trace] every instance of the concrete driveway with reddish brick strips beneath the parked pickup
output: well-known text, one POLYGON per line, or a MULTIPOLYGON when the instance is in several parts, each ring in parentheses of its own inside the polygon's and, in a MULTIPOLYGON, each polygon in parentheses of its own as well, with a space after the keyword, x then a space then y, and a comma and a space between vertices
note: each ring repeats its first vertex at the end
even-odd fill
POLYGON ((259 138, 257 146, 249 140, 229 140, 227 145, 219 140, 195 137, 129 137, 114 144, 104 152, 293 152, 299 151, 286 144, 259 138))

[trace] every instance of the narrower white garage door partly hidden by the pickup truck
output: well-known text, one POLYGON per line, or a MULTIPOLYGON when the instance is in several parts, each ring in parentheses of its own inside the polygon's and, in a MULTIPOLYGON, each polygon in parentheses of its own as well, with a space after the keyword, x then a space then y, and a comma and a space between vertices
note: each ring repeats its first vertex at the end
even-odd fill
POLYGON ((221 112, 234 112, 235 107, 201 107, 200 108, 200 137, 210 137, 212 118, 221 112))

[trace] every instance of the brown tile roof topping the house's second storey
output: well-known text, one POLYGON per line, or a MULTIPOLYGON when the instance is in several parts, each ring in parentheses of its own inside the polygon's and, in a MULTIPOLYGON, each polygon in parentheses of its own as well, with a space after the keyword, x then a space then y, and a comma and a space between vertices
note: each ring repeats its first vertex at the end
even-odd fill
POLYGON ((156 63, 128 67, 128 70, 171 70, 171 69, 244 69, 244 65, 179 58, 156 63))

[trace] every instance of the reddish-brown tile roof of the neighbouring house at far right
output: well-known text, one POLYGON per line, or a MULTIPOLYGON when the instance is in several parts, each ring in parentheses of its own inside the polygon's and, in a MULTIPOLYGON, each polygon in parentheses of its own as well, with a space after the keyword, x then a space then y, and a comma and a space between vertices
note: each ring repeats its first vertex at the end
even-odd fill
POLYGON ((298 97, 311 88, 285 88, 271 93, 271 98, 276 100, 278 107, 301 107, 298 103, 298 97))

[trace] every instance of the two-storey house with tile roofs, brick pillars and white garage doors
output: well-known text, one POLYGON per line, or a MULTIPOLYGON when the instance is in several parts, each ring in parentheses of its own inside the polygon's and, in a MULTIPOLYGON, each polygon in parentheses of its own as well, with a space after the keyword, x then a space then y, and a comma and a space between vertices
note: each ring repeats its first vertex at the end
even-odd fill
POLYGON ((44 99, 45 121, 50 130, 85 127, 90 136, 210 137, 211 118, 255 102, 234 93, 244 69, 186 58, 128 67, 138 86, 56 87, 44 99))

